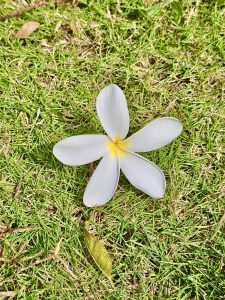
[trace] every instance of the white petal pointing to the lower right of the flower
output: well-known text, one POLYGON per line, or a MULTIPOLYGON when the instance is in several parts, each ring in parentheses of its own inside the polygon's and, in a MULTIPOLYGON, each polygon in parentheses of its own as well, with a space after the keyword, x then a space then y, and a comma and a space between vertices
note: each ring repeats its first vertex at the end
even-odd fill
POLYGON ((163 172, 146 158, 129 152, 119 156, 120 167, 130 183, 152 198, 162 198, 166 188, 163 172))

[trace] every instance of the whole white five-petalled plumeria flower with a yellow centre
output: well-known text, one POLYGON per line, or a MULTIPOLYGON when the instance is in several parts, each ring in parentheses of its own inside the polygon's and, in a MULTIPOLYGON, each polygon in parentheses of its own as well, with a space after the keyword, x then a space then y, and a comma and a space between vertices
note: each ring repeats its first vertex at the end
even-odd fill
POLYGON ((115 84, 102 89, 96 108, 107 133, 68 137, 53 149, 55 157, 68 166, 78 166, 102 157, 84 192, 88 207, 103 205, 113 196, 120 170, 137 189, 152 198, 162 198, 166 188, 163 172, 151 161, 136 152, 159 149, 173 141, 182 131, 175 118, 159 118, 126 138, 129 112, 123 91, 115 84))

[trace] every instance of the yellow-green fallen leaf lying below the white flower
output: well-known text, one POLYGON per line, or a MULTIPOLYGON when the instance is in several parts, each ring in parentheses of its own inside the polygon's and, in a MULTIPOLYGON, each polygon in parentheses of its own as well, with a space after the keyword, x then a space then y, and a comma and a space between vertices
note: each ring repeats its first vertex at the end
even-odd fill
POLYGON ((90 253, 99 269, 109 279, 111 279, 112 259, 105 246, 99 241, 99 239, 95 235, 89 233, 88 224, 89 222, 86 221, 84 226, 84 239, 88 248, 88 252, 90 253))

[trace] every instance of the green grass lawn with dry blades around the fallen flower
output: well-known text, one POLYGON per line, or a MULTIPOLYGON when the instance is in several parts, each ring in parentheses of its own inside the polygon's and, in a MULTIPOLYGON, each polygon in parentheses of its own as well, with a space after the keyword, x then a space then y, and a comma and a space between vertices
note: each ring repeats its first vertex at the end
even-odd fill
MULTIPOLYGON (((211 239, 225 205, 223 1, 71 2, 0 23, 0 290, 32 300, 224 299, 222 226, 211 239), (29 20, 39 30, 15 40, 29 20), (163 199, 121 176, 113 199, 88 209, 96 163, 63 166, 52 148, 102 132, 95 99, 110 82, 125 91, 130 133, 161 116, 184 131, 144 154, 166 175, 163 199), (85 250, 90 216, 113 256, 112 283, 85 250), (38 263, 61 238, 77 280, 57 259, 38 263)), ((0 14, 18 8, 2 0, 0 14)))

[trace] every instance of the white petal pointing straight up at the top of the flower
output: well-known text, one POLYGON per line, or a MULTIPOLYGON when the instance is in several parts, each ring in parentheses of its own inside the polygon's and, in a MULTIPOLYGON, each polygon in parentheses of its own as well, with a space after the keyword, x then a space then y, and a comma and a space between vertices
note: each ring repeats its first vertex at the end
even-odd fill
POLYGON ((129 130, 129 112, 123 91, 115 84, 102 89, 97 97, 97 113, 106 133, 124 139, 129 130))

